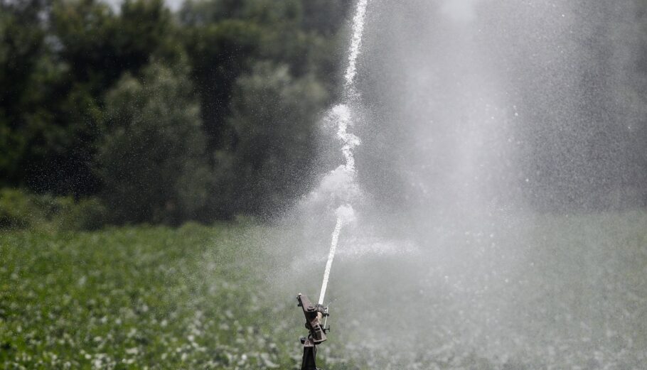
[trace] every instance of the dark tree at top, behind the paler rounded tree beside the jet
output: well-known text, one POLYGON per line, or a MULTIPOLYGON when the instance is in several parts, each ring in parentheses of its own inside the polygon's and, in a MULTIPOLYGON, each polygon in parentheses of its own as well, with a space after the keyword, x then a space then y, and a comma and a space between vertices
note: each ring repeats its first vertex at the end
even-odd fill
POLYGON ((255 62, 271 60, 287 65, 295 77, 314 75, 328 91, 339 85, 342 58, 336 35, 348 1, 311 3, 193 0, 184 4, 179 16, 185 27, 183 39, 212 150, 230 145, 232 133, 225 121, 232 113, 235 81, 249 73, 255 62), (326 19, 317 23, 320 11, 326 19))

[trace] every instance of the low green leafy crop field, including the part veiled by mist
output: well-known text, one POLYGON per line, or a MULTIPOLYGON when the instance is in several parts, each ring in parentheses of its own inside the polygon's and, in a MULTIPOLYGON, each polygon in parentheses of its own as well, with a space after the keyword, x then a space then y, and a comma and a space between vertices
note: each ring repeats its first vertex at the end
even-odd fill
MULTIPOLYGON (((643 369, 646 225, 639 212, 538 218, 520 231, 532 240, 523 259, 478 256, 481 269, 457 283, 460 266, 433 253, 341 253, 319 366, 643 369)), ((274 243, 287 234, 249 224, 5 232, 0 368, 296 369, 305 330, 294 298, 316 298, 323 259, 310 276, 302 251, 274 243)))

